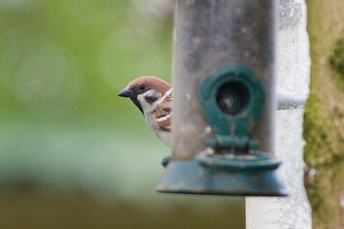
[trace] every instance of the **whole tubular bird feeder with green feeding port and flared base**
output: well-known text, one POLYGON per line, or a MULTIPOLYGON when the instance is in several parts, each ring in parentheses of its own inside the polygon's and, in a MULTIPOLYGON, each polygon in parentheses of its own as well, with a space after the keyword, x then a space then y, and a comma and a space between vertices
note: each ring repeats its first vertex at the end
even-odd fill
POLYGON ((172 155, 157 192, 284 196, 274 0, 175 1, 172 155))

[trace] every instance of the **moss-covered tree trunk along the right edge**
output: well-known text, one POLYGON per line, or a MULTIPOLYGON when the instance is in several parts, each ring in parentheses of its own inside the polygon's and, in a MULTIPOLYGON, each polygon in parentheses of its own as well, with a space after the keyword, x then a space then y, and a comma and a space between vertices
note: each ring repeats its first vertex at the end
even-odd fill
POLYGON ((339 2, 307 0, 310 38, 310 96, 305 106, 305 188, 312 206, 313 228, 342 228, 340 195, 344 189, 344 139, 341 119, 344 90, 342 21, 339 2), (324 63, 323 60, 328 60, 324 63), (330 101, 329 101, 330 100, 330 101))

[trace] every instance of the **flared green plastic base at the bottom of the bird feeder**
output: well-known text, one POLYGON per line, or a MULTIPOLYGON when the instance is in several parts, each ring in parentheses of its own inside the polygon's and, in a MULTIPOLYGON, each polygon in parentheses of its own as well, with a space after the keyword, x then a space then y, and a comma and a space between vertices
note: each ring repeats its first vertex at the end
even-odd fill
POLYGON ((157 192, 237 195, 286 196, 278 169, 224 170, 201 165, 196 159, 171 160, 157 192))

